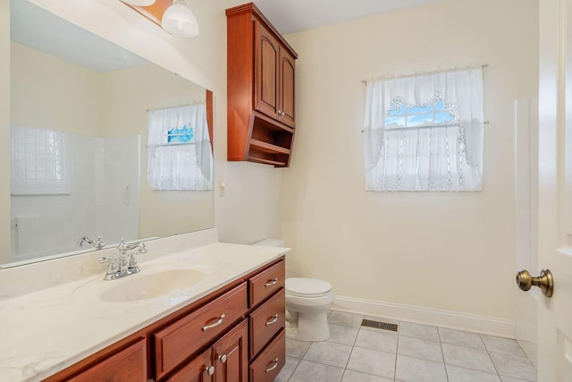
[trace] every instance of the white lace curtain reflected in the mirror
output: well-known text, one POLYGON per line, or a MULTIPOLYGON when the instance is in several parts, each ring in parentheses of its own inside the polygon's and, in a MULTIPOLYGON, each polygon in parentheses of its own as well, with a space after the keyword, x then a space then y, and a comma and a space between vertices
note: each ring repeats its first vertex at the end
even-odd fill
POLYGON ((154 190, 213 190, 211 150, 204 102, 149 111, 147 180, 154 190), (173 130, 193 130, 188 142, 169 142, 173 130))

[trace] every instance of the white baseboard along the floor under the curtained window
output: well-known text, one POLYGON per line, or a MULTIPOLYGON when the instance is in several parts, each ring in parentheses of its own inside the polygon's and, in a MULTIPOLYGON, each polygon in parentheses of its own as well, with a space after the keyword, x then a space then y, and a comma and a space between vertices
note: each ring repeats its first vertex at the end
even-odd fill
POLYGON ((448 327, 483 335, 515 338, 515 322, 509 319, 474 316, 447 310, 433 310, 381 301, 336 296, 332 310, 390 318, 419 324, 448 327))

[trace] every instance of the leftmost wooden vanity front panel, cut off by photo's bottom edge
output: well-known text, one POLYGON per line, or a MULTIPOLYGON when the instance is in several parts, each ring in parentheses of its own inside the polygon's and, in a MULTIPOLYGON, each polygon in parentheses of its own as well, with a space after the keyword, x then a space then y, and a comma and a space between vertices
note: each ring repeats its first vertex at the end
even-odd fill
POLYGON ((147 380, 147 348, 144 339, 116 352, 105 361, 97 363, 79 375, 67 379, 70 382, 105 380, 109 382, 140 382, 147 380))

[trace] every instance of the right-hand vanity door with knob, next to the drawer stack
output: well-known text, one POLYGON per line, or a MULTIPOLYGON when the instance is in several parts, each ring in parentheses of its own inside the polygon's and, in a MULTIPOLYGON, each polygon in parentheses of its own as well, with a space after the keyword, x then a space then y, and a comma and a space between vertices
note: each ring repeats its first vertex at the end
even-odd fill
POLYGON ((247 382, 248 319, 213 345, 214 381, 247 382))

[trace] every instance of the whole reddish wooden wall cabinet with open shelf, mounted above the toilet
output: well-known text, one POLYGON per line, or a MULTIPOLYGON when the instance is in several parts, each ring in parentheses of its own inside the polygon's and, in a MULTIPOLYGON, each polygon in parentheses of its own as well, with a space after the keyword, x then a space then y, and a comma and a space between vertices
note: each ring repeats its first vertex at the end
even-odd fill
POLYGON ((228 160, 289 166, 298 55, 256 5, 226 16, 228 160))

